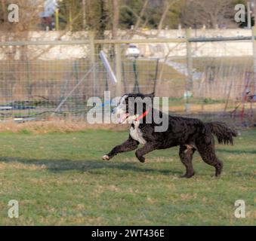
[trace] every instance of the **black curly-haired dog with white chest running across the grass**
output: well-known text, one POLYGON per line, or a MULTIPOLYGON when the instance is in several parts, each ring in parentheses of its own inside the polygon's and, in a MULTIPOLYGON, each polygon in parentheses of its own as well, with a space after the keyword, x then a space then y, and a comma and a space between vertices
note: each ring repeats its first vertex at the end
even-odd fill
MULTIPOLYGON (((134 99, 140 99, 139 102, 143 102, 146 97, 152 99, 153 102, 153 93, 150 95, 125 94, 117 107, 113 109, 113 114, 120 115, 119 123, 127 120, 131 121, 130 135, 127 141, 117 145, 109 154, 104 155, 103 160, 110 160, 116 154, 122 152, 133 151, 138 148, 139 144, 142 144, 143 147, 137 149, 135 154, 137 159, 143 163, 145 162, 143 156, 150 151, 179 145, 180 160, 186 166, 186 173, 182 177, 191 178, 195 174, 192 163, 195 151, 199 151, 205 163, 215 167, 216 176, 221 175, 223 163, 216 157, 214 136, 217 136, 219 143, 233 145, 233 136, 237 136, 236 130, 232 130, 219 121, 203 123, 195 118, 165 114, 165 117, 168 116, 168 128, 164 132, 156 132, 155 127, 159 126, 159 123, 154 121, 153 114, 156 112, 154 112, 153 105, 149 107, 143 103, 142 114, 139 114, 138 102, 134 101, 134 99), (152 123, 150 124, 147 124, 148 116, 152 117, 152 123)), ((158 113, 159 117, 163 117, 164 113, 161 111, 158 111, 158 113)))

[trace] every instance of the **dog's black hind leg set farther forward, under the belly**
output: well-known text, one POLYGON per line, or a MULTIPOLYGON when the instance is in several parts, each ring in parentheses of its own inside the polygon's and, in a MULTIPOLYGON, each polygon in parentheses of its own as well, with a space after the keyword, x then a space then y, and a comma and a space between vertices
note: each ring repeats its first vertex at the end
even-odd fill
POLYGON ((186 166, 186 173, 181 176, 182 178, 191 178, 193 175, 195 175, 192 163, 193 154, 195 151, 196 149, 190 145, 180 145, 180 160, 182 163, 184 163, 184 166, 186 166))

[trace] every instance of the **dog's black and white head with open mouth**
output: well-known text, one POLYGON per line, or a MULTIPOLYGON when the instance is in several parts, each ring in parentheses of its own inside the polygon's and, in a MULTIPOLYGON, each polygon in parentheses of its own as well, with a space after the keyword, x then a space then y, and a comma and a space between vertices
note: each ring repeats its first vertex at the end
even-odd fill
POLYGON ((119 124, 125 121, 135 121, 153 106, 154 93, 126 93, 118 102, 112 114, 119 115, 119 124))

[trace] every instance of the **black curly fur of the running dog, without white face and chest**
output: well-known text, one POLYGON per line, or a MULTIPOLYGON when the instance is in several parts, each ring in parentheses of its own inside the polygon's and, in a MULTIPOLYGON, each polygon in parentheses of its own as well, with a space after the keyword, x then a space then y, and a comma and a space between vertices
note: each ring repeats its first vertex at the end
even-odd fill
MULTIPOLYGON (((125 103, 127 112, 129 112, 129 97, 137 96, 143 99, 145 96, 149 95, 126 94, 125 103)), ((151 97, 153 98, 153 94, 151 97)), ((150 114, 153 115, 153 113, 154 111, 150 111, 150 114)), ((162 114, 163 113, 160 111, 160 117, 162 117, 162 114)), ((109 154, 103 156, 103 160, 109 160, 116 154, 137 149, 135 152, 136 157, 143 163, 145 161, 145 157, 143 156, 150 151, 171 148, 179 145, 180 160, 186 167, 186 173, 182 177, 191 178, 195 174, 192 163, 195 151, 199 151, 199 154, 205 163, 214 166, 215 176, 221 175, 223 163, 216 157, 214 151, 214 136, 217 137, 219 143, 233 145, 233 136, 237 136, 236 130, 227 127, 227 124, 220 121, 212 121, 205 124, 196 118, 171 115, 168 115, 168 130, 165 132, 155 132, 154 127, 156 125, 158 124, 154 123, 154 121, 152 124, 146 124, 146 119, 143 117, 138 128, 143 139, 146 141, 146 144, 143 145, 142 148, 137 149, 140 143, 136 139, 133 139, 130 134, 128 139, 122 143, 122 145, 116 146, 109 152, 109 154)), ((131 127, 134 127, 134 124, 131 124, 131 127)))

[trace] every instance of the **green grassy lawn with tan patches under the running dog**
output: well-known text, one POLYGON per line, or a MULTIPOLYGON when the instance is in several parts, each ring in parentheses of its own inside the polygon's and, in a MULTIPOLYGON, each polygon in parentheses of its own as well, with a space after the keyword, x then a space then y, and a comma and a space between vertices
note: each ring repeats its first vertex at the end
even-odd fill
POLYGON ((1 225, 255 225, 256 130, 242 132, 235 146, 217 146, 221 178, 196 154, 196 176, 184 172, 177 148, 134 152, 109 162, 101 156, 127 132, 0 133, 1 225), (233 213, 245 200, 247 217, 233 213), (8 201, 18 200, 20 218, 8 218, 8 201))

